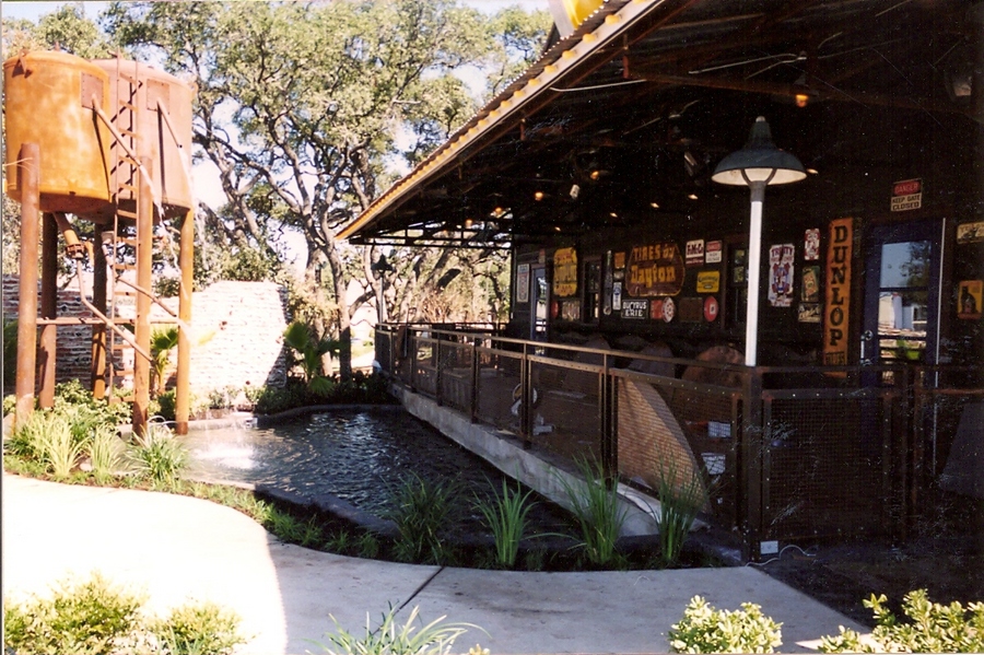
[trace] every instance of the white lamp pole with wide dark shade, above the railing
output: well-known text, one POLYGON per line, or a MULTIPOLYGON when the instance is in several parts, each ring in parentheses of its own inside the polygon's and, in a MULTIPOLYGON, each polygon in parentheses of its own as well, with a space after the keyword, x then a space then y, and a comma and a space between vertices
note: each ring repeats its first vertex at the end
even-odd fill
POLYGON ((752 125, 748 143, 717 164, 716 183, 748 186, 751 189, 751 221, 748 234, 748 308, 745 319, 745 364, 754 366, 759 340, 759 273, 762 260, 762 203, 765 187, 789 184, 806 177, 806 169, 794 155, 784 152, 772 142, 772 130, 765 118, 759 116, 752 125))

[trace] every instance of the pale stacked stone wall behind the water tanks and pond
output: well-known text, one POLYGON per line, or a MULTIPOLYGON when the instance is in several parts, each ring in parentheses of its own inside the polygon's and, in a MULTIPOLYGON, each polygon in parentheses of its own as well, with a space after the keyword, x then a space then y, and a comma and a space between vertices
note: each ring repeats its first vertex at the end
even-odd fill
MULTIPOLYGON (((3 276, 4 320, 17 317, 17 277, 3 276)), ((164 299, 163 303, 177 312, 177 299, 164 299)), ((58 293, 58 315, 92 316, 72 289, 58 293)), ((169 320, 165 311, 153 307, 151 321, 155 328, 169 320)), ((286 291, 272 282, 224 281, 196 292, 191 299, 192 394, 203 397, 230 387, 282 386, 286 379, 286 291)), ((59 326, 58 382, 80 379, 89 385, 91 337, 90 326, 59 326)), ((176 354, 172 352, 172 363, 176 362, 176 354)), ((173 365, 171 374, 168 382, 173 386, 173 365)))

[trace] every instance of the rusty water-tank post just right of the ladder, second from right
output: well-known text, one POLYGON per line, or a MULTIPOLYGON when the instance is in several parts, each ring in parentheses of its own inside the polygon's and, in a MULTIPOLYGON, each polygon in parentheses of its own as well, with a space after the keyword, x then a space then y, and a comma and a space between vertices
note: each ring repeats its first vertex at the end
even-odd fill
MULTIPOLYGON (((151 256, 154 236, 154 206, 150 180, 152 160, 140 157, 140 164, 148 175, 140 176, 140 192, 137 196, 137 285, 150 289, 152 284, 151 256)), ((150 309, 151 300, 145 293, 137 294, 137 344, 143 352, 150 352, 150 309)), ((147 434, 148 408, 150 406, 150 362, 133 354, 133 434, 142 437, 147 434)))

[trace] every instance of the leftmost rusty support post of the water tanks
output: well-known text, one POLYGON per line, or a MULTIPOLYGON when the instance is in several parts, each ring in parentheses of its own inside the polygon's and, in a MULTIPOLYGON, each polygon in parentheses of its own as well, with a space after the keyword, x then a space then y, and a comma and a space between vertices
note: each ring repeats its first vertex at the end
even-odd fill
POLYGON ((21 188, 21 260, 17 307, 17 379, 14 425, 23 425, 34 411, 34 366, 37 361, 37 231, 40 217, 40 148, 24 143, 17 154, 21 188))

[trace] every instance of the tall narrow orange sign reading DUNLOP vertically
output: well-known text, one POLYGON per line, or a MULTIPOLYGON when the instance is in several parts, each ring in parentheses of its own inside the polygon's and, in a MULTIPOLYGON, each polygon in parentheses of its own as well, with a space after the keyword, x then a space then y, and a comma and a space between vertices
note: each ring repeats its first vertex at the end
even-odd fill
POLYGON ((823 306, 823 364, 828 366, 847 364, 853 246, 854 220, 831 221, 827 250, 827 303, 823 306))

